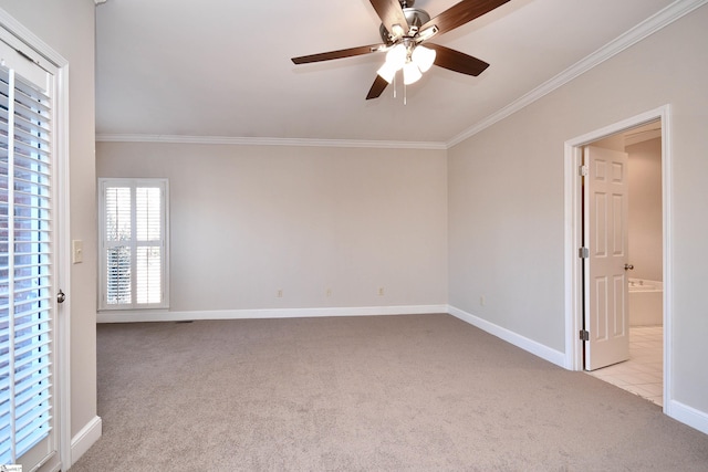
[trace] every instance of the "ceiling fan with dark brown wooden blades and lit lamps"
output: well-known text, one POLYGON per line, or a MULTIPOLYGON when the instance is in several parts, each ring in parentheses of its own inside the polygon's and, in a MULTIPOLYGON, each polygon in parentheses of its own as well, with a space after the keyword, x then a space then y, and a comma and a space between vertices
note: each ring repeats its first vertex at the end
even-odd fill
POLYGON ((386 62, 378 70, 366 99, 379 97, 400 70, 403 70, 404 84, 406 85, 418 81, 433 64, 477 76, 489 67, 488 63, 426 41, 437 34, 461 27, 508 1, 462 0, 430 19, 425 10, 413 8, 415 0, 371 0, 372 7, 382 21, 379 33, 383 43, 292 57, 292 62, 306 64, 386 52, 386 62), (426 42, 426 46, 423 45, 424 42, 426 42))

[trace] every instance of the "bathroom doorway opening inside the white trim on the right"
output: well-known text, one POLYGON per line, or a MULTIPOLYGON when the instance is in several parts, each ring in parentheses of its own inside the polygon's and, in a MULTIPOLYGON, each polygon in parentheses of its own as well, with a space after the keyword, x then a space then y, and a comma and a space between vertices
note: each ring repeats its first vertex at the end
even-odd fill
MULTIPOLYGON (((587 319, 612 319, 610 313, 602 313, 603 316, 593 316, 593 311, 598 311, 601 301, 597 298, 596 284, 597 274, 603 272, 603 264, 611 255, 595 258, 593 237, 604 233, 602 228, 614 228, 614 238, 608 238, 612 247, 615 240, 620 243, 615 248, 618 256, 614 280, 616 287, 606 290, 606 294, 612 294, 613 290, 618 293, 614 298, 622 301, 616 303, 615 332, 610 326, 606 328, 604 344, 614 334, 614 342, 620 342, 620 346, 607 349, 610 346, 602 346, 600 353, 589 356, 589 345, 593 344, 593 338, 585 343, 585 355, 583 359, 584 370, 591 375, 621 387, 627 391, 638 395, 645 399, 663 406, 663 268, 662 268, 662 123, 654 120, 635 128, 631 128, 601 140, 591 143, 584 147, 584 165, 587 166, 587 158, 602 156, 614 156, 612 161, 620 159, 624 165, 624 187, 622 191, 613 189, 615 200, 624 197, 625 208, 615 206, 620 214, 617 221, 611 216, 604 214, 605 209, 598 209, 594 196, 602 195, 602 186, 598 189, 594 185, 593 171, 595 166, 591 165, 589 175, 584 177, 585 193, 590 195, 590 204, 584 206, 589 214, 584 216, 583 222, 589 222, 584 234, 590 234, 591 248, 590 258, 584 264, 584 275, 587 279, 590 273, 590 301, 585 303, 586 316, 584 329, 597 331, 596 326, 587 326, 587 319), (606 217, 606 218, 604 218, 606 217), (604 259, 604 260, 603 260, 604 259), (624 266, 623 266, 624 265, 624 266), (593 306, 595 305, 595 306, 593 306), (587 311, 591 316, 587 316, 587 311), (622 316, 624 315, 624 316, 622 316), (610 353, 607 353, 610 350, 610 353), (610 357, 607 356, 610 354, 610 357), (614 356, 614 357, 613 357, 614 356), (592 361, 591 361, 592 360, 592 361)), ((593 160, 593 162, 595 162, 593 160)), ((618 187, 620 179, 614 183, 618 187)), ((611 252, 611 251, 607 251, 611 252)), ((603 274, 604 275, 604 274, 603 274)), ((603 305, 612 305, 604 303, 603 305)), ((601 308, 604 308, 602 306, 601 308)), ((602 324, 600 324, 602 326, 602 324)), ((596 343, 602 344, 602 343, 596 343)), ((596 346, 601 347, 601 346, 596 346)))

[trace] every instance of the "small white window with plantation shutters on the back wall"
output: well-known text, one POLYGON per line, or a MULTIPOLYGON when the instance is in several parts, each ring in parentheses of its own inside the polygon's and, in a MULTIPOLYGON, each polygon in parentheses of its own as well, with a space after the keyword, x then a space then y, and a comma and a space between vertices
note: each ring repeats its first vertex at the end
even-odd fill
POLYGON ((167 180, 100 179, 100 308, 166 308, 167 180))

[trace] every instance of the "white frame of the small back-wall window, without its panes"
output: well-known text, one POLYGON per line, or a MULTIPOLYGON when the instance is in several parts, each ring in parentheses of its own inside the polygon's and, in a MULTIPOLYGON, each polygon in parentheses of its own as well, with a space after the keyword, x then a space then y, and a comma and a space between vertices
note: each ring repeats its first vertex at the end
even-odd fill
MULTIPOLYGON (((157 178, 100 178, 98 179, 98 234, 100 234, 100 254, 98 254, 98 270, 100 270, 100 286, 98 286, 98 310, 100 311, 142 311, 142 310, 166 310, 169 307, 169 185, 167 179, 157 179, 157 178), (160 261, 160 289, 162 296, 159 303, 137 303, 136 298, 136 280, 135 277, 131 277, 131 291, 132 297, 131 303, 124 304, 108 304, 106 292, 107 292, 107 256, 106 251, 108 248, 107 244, 107 234, 106 234, 106 188, 110 187, 125 187, 131 188, 131 192, 133 196, 133 209, 132 209, 132 219, 135 221, 135 189, 136 188, 159 188, 160 197, 162 197, 162 214, 160 214, 160 241, 159 247, 162 261, 160 261)), ((132 248, 136 248, 136 245, 140 245, 138 241, 135 240, 135 224, 132 224, 132 237, 129 240, 129 244, 132 248)), ((131 272, 135 274, 135 251, 132 251, 131 255, 131 272)))

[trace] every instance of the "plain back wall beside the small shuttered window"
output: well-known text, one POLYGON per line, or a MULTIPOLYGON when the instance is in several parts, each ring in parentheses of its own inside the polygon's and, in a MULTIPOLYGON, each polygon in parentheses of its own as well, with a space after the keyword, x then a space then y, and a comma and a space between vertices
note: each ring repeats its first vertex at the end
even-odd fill
POLYGON ((171 312, 447 302, 444 150, 97 143, 97 175, 169 179, 171 312))

